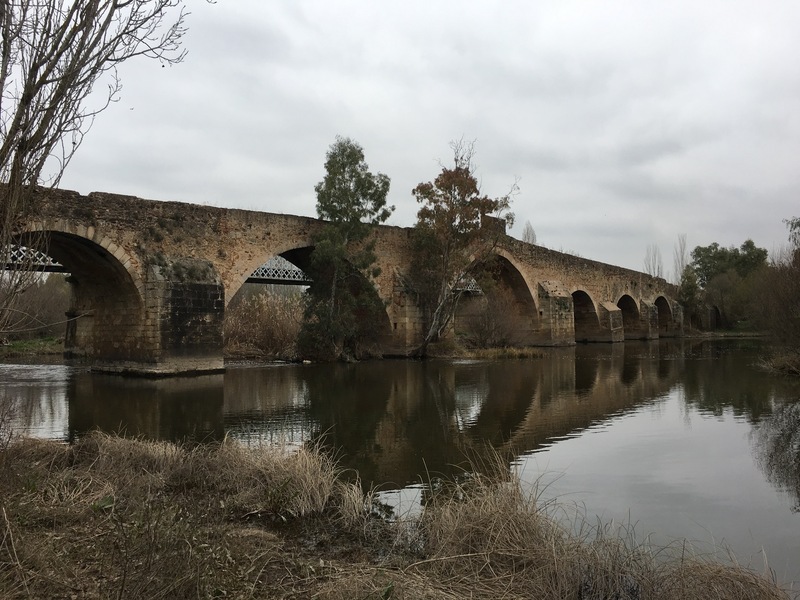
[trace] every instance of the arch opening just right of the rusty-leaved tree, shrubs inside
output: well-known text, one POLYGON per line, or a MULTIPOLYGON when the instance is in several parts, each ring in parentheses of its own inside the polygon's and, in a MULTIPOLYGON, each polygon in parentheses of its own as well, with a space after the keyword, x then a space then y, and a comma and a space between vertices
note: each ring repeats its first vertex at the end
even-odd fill
POLYGON ((535 343, 540 317, 524 277, 506 257, 496 255, 473 275, 477 288, 467 291, 455 315, 456 335, 479 347, 535 343))

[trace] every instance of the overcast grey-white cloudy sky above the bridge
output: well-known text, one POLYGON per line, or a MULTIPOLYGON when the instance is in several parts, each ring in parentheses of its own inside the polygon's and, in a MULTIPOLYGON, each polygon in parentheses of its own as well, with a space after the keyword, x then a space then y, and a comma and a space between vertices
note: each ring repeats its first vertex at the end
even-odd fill
POLYGON ((186 60, 128 63, 62 187, 315 215, 336 135, 391 177, 389 223, 451 140, 542 245, 664 272, 774 250, 800 216, 794 0, 190 0, 186 60))

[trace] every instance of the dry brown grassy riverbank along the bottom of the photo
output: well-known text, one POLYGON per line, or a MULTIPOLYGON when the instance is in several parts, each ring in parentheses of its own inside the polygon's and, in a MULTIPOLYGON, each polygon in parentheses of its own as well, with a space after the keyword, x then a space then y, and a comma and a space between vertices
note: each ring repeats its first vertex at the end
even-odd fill
POLYGON ((0 597, 787 597, 684 547, 575 536, 483 470, 387 522, 314 450, 18 440, 0 449, 0 597))

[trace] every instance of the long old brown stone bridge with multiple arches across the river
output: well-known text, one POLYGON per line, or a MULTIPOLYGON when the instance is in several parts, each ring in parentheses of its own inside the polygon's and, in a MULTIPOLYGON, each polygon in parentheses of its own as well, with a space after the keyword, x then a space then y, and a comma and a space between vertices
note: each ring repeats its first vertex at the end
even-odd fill
MULTIPOLYGON (((223 369, 228 301, 273 256, 303 268, 323 224, 286 214, 47 190, 16 241, 41 246, 46 240, 40 249, 71 273, 66 356, 85 358, 97 370, 157 375, 223 369)), ((421 312, 404 284, 411 233, 390 226, 375 233, 381 273, 373 283, 386 305, 385 355, 408 355, 423 336, 421 312)), ((505 341, 513 345, 682 332, 675 287, 644 273, 503 236, 484 275, 491 291, 464 300, 457 332, 485 314, 487 302, 502 316, 505 341)))

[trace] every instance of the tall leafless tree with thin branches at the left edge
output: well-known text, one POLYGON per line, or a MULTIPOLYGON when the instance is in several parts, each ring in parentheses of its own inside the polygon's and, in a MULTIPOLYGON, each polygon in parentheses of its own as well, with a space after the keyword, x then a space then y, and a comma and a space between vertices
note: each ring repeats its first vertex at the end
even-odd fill
MULTIPOLYGON (((117 67, 138 56, 180 62, 184 0, 0 0, 0 269, 35 214, 39 186, 55 187, 94 118, 121 89, 117 67), (105 93, 98 92, 105 84, 105 93)), ((41 191, 41 189, 40 189, 41 191)), ((0 270, 0 332, 31 264, 0 270)))

